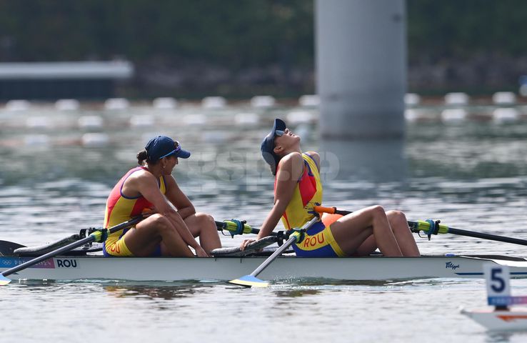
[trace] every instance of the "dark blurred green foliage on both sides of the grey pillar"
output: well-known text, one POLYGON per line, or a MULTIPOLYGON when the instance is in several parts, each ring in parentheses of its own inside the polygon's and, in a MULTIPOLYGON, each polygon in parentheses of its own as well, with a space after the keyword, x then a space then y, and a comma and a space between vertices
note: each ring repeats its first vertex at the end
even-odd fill
MULTIPOLYGON (((411 62, 526 50, 525 0, 407 0, 406 7, 411 62)), ((313 1, 0 0, 0 61, 119 56, 231 70, 312 68, 313 1)))

